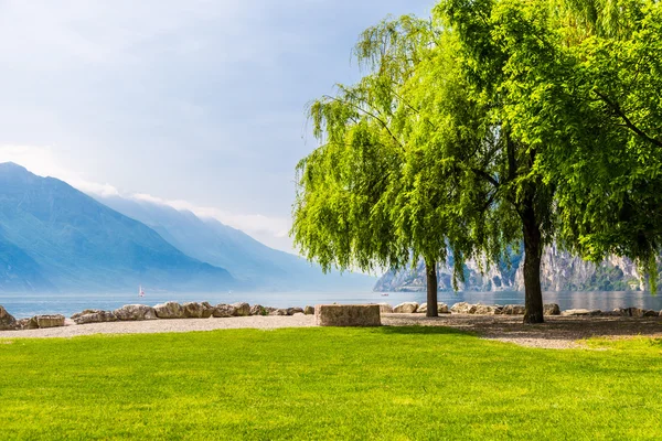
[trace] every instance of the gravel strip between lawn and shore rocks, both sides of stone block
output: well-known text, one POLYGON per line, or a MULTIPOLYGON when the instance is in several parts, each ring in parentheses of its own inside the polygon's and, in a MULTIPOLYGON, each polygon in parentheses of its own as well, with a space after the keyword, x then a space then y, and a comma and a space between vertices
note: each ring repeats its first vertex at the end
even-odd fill
MULTIPOLYGON (((444 314, 436 319, 428 319, 423 314, 382 315, 382 323, 386 326, 448 326, 474 333, 483 338, 556 349, 583 347, 581 340, 589 337, 627 338, 637 335, 662 337, 662 319, 660 318, 548 316, 545 320, 544 324, 525 325, 522 323, 521 315, 444 314)), ((314 326, 312 315, 148 320, 84 325, 75 325, 67 320, 64 327, 0 331, 0 338, 73 337, 93 334, 146 334, 243 327, 275 330, 309 326, 314 326)))

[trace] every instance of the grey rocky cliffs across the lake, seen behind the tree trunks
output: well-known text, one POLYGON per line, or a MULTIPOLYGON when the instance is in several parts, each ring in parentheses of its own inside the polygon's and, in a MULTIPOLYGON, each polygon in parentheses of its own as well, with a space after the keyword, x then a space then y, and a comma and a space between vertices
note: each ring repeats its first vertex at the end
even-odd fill
MULTIPOLYGON (((523 250, 511 252, 511 266, 505 262, 481 273, 478 262, 465 266, 466 282, 460 291, 523 291, 523 250)), ((437 268, 439 291, 451 291, 452 267, 437 268)), ((388 271, 375 284, 375 291, 425 291, 425 265, 416 268, 388 271)), ((642 291, 644 281, 637 266, 627 258, 610 256, 600 265, 580 259, 556 246, 545 248, 541 263, 541 284, 544 291, 642 291)))

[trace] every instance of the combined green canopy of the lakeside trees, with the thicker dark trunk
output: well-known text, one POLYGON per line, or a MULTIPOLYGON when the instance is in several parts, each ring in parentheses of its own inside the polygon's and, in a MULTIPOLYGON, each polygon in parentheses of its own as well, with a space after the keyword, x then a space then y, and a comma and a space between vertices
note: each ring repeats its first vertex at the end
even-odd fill
POLYGON ((494 265, 523 241, 531 323, 553 240, 652 270, 661 35, 654 0, 442 0, 430 20, 370 28, 366 75, 310 106, 321 146, 297 169, 295 243, 324 268, 450 252, 457 286, 467 259, 494 265))

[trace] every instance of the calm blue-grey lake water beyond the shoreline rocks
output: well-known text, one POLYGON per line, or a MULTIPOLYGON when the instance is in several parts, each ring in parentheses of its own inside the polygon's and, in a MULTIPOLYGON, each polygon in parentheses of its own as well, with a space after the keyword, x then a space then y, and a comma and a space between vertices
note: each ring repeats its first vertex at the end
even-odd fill
MULTIPOLYGON (((216 303, 248 302, 265 306, 305 306, 318 303, 378 303, 393 305, 402 302, 426 301, 425 292, 232 292, 232 293, 150 293, 139 298, 135 292, 126 294, 6 294, 0 293, 0 304, 17 319, 35 314, 64 314, 70 316, 85 309, 114 310, 122 304, 143 303, 154 305, 166 301, 189 302, 209 301, 216 303)), ((600 309, 638 306, 662 310, 662 295, 652 297, 648 292, 590 291, 590 292, 545 292, 546 303, 558 303, 562 310, 574 308, 600 309)), ((439 301, 451 305, 456 302, 483 304, 524 304, 523 292, 439 292, 439 301)))

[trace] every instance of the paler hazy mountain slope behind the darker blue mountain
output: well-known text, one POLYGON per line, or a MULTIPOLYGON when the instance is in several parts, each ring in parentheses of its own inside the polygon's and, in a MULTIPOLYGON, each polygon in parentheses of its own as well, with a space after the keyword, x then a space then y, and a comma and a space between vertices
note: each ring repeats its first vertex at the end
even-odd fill
POLYGON ((189 211, 142 200, 95 196, 103 204, 148 225, 186 255, 227 269, 253 289, 370 290, 375 279, 356 273, 324 275, 319 266, 267 247, 242 230, 189 211))

